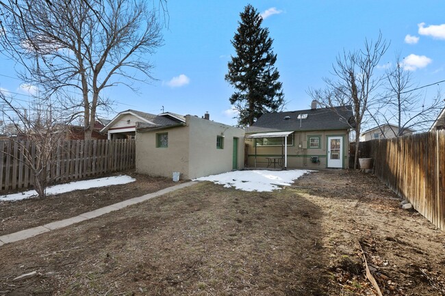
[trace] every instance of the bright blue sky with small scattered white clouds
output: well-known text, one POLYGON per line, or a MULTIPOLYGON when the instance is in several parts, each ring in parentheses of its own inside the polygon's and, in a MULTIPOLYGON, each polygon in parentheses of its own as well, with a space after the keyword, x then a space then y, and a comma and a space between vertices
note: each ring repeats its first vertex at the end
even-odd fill
MULTIPOLYGON (((137 109, 149 113, 164 111, 203 116, 236 124, 229 96, 233 89, 224 80, 227 62, 233 55, 231 39, 238 27, 240 12, 249 2, 168 1, 169 24, 164 29, 164 46, 150 57, 159 79, 140 84, 135 94, 124 86, 107 91, 116 100, 116 112, 137 109)), ((365 38, 375 39, 381 31, 390 49, 381 60, 377 74, 405 57, 416 85, 445 79, 445 5, 443 1, 251 1, 259 12, 268 13, 263 26, 274 39, 277 66, 288 105, 286 109, 307 109, 308 88, 322 88, 335 57, 343 50, 360 49, 365 38)), ((0 88, 23 94, 10 62, 0 59, 0 88), (8 76, 8 77, 5 77, 8 76)), ((443 85, 442 85, 443 86, 443 85)), ((437 88, 426 88, 427 100, 437 88)), ((112 118, 111 114, 102 114, 112 118)))

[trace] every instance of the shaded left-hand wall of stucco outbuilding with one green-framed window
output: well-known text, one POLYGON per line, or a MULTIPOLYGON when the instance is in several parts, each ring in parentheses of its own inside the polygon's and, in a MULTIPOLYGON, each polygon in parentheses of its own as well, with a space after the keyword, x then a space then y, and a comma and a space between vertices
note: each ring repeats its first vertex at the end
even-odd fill
POLYGON ((188 178, 188 126, 136 135, 136 172, 152 176, 173 177, 180 172, 188 178), (168 133, 168 148, 156 147, 156 134, 168 133))

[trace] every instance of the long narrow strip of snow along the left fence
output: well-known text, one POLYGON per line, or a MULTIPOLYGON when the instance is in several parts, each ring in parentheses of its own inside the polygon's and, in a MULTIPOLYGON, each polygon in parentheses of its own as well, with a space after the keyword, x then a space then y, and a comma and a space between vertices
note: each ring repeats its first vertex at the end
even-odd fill
MULTIPOLYGON (((47 187, 47 195, 65 193, 69 191, 79 190, 79 189, 90 189, 95 187, 105 187, 110 185, 120 185, 127 184, 136 181, 136 179, 131 178, 130 176, 112 176, 105 178, 97 178, 92 180, 83 180, 83 181, 75 181, 71 183, 54 185, 51 187, 47 187)), ((0 202, 6 200, 24 200, 25 198, 33 198, 37 196, 37 192, 35 190, 29 190, 14 194, 9 194, 8 196, 0 196, 0 202)))

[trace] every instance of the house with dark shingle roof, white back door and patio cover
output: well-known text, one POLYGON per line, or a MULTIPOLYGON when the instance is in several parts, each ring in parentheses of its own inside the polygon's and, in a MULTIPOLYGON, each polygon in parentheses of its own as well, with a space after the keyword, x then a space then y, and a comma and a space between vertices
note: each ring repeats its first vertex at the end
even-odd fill
POLYGON ((265 113, 246 131, 249 167, 348 166, 350 106, 265 113))

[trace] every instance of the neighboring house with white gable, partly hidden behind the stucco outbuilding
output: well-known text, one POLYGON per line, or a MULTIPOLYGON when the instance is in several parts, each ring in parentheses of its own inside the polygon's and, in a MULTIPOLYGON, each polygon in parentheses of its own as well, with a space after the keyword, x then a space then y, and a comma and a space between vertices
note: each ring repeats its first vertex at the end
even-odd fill
POLYGON ((107 133, 108 139, 134 139, 138 127, 162 127, 184 122, 184 116, 171 112, 155 115, 130 109, 118 113, 101 133, 107 133))

